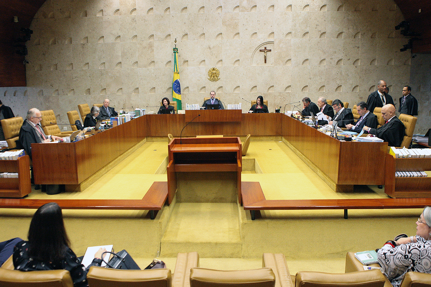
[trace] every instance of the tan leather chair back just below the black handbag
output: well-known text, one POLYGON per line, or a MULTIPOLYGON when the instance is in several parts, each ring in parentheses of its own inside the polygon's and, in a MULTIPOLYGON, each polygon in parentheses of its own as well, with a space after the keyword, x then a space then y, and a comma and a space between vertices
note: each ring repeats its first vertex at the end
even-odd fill
POLYGON ((87 273, 89 287, 171 287, 171 270, 120 270, 91 266, 87 273))

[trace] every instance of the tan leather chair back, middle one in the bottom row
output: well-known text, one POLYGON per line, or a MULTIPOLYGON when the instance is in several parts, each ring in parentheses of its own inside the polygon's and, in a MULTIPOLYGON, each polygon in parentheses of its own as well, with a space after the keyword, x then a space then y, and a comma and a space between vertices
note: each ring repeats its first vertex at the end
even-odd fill
POLYGON ((241 271, 221 271, 191 268, 190 287, 274 287, 271 268, 241 271))

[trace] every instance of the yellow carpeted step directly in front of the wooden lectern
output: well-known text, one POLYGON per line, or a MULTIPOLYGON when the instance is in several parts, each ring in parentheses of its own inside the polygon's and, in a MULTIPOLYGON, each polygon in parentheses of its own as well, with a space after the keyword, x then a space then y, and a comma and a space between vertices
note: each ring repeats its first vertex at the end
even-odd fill
POLYGON ((175 204, 162 237, 160 256, 191 251, 212 258, 242 256, 237 204, 175 204))

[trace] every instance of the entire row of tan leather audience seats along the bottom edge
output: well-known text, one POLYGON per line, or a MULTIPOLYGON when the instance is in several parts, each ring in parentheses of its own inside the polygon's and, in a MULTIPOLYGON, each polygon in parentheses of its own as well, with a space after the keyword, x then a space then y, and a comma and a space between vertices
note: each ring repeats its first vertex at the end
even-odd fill
MULTIPOLYGON (((199 267, 197 252, 178 253, 175 272, 170 269, 117 270, 91 267, 90 287, 392 287, 378 270, 364 271, 352 252, 347 253, 345 273, 298 272, 291 276, 283 254, 264 253, 262 268, 222 271, 199 267)), ((401 287, 426 287, 431 275, 407 272, 401 287)), ((73 287, 69 271, 13 270, 12 257, 0 268, 0 286, 73 287)))

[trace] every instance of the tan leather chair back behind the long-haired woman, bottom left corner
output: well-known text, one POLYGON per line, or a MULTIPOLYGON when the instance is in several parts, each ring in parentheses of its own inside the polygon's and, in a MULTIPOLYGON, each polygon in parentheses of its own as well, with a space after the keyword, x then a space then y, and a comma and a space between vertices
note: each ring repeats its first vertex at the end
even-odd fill
POLYGON ((8 287, 73 287, 67 270, 27 271, 0 268, 0 286, 8 287))

